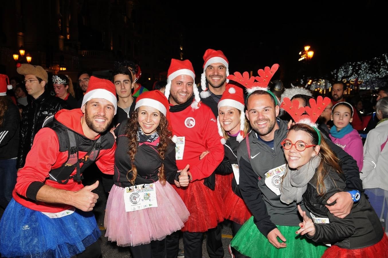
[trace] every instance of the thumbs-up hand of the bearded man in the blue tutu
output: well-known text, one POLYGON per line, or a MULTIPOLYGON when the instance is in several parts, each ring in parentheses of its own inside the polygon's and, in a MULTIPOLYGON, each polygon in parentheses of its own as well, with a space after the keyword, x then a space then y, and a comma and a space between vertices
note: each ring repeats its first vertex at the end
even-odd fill
POLYGON ((91 211, 97 203, 98 194, 92 192, 92 190, 98 187, 99 181, 96 181, 92 185, 87 185, 82 189, 74 192, 71 205, 81 211, 91 211))

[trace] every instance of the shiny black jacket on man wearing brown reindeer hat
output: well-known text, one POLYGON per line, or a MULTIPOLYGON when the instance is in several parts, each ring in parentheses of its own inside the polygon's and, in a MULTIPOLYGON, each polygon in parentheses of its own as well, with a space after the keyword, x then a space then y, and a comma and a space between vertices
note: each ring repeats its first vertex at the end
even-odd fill
POLYGON ((23 168, 26 156, 31 149, 35 134, 42 128, 43 121, 60 109, 69 109, 68 104, 58 97, 45 91, 37 99, 32 100, 22 113, 20 125, 19 150, 17 153, 17 168, 23 168))

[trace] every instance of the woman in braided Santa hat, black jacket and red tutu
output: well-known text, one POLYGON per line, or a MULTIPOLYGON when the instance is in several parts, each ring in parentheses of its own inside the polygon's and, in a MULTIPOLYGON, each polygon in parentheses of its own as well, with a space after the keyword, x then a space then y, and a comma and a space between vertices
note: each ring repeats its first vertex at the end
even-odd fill
MULTIPOLYGON (((229 182, 224 187, 227 189, 223 196, 224 218, 232 221, 233 236, 252 214, 242 200, 239 191, 239 168, 237 164, 237 147, 249 130, 249 123, 245 119, 244 95, 242 89, 228 84, 218 102, 217 117, 218 133, 224 145, 225 158, 218 166, 218 174, 227 175, 229 182)), ((236 257, 246 257, 234 248, 229 250, 236 257)))

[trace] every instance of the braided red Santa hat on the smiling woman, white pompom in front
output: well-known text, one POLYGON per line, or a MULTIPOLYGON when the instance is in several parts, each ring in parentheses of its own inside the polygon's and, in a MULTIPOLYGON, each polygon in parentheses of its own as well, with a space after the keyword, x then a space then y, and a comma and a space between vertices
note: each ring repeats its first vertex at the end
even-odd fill
MULTIPOLYGON (((226 85, 225 91, 222 94, 221 100, 218 102, 218 110, 220 107, 223 106, 230 106, 235 107, 240 111, 240 133, 237 135, 236 140, 238 142, 241 142, 245 135, 244 135, 244 125, 245 125, 245 113, 244 113, 244 94, 242 93, 242 88, 234 86, 234 85, 226 85)), ((219 116, 217 116, 217 126, 218 126, 218 134, 221 137, 221 143, 225 144, 226 139, 224 138, 220 119, 219 116)))

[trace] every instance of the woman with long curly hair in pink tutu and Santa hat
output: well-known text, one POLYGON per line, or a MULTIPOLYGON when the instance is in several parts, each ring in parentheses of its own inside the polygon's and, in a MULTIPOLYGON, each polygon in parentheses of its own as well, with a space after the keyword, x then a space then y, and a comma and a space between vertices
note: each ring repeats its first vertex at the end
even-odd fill
POLYGON ((130 246, 135 258, 164 257, 166 235, 180 230, 189 217, 170 185, 189 184, 189 165, 177 173, 169 116, 163 93, 144 92, 128 121, 114 130, 114 185, 106 205, 105 236, 118 246, 130 246))

